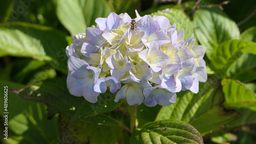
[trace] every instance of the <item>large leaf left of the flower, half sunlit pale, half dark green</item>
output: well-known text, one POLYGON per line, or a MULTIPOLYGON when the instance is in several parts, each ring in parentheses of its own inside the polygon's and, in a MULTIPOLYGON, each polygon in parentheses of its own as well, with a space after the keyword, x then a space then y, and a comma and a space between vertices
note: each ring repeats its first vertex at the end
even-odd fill
POLYGON ((66 34, 29 23, 0 25, 0 56, 47 60, 52 68, 67 73, 66 34))

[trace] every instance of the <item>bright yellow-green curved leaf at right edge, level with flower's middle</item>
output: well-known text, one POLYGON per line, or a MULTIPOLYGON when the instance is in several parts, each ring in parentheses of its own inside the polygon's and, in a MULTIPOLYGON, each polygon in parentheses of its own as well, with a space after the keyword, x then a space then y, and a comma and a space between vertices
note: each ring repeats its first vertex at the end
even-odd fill
POLYGON ((224 70, 236 62, 244 53, 256 54, 256 43, 247 40, 228 40, 211 53, 211 68, 224 70))

